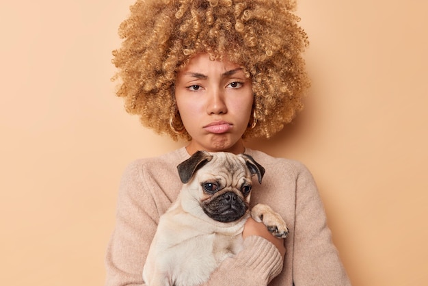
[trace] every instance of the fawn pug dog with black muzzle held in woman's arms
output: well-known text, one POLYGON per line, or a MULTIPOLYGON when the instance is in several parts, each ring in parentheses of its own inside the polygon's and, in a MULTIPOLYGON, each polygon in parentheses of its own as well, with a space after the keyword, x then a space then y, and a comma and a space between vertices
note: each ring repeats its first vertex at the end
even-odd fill
POLYGON ((159 220, 144 265, 146 285, 205 283, 224 259, 243 248, 243 226, 250 216, 276 237, 289 233, 267 205, 249 210, 252 176, 261 183, 265 173, 250 155, 198 151, 177 168, 184 185, 159 220))

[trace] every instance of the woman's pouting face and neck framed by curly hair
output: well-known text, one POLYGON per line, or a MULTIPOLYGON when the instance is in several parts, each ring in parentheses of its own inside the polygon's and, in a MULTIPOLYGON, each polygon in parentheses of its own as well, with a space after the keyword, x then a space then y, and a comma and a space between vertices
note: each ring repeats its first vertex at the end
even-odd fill
POLYGON ((190 154, 198 150, 243 153, 241 137, 250 120, 253 94, 241 66, 198 54, 178 73, 175 98, 192 138, 187 146, 190 154))

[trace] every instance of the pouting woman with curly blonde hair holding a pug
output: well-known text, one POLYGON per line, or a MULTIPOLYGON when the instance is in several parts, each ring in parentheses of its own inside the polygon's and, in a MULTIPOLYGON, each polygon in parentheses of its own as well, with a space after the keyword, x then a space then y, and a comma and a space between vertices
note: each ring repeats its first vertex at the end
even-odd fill
POLYGON ((198 150, 252 155, 266 169, 252 204, 266 203, 291 235, 276 239, 250 219, 244 249, 206 285, 349 285, 332 244, 310 172, 296 161, 245 148, 302 108, 309 86, 306 34, 293 1, 146 0, 131 7, 113 52, 126 110, 146 127, 188 140, 125 170, 116 229, 107 251, 107 285, 144 285, 142 268, 159 217, 181 187, 176 166, 198 150))

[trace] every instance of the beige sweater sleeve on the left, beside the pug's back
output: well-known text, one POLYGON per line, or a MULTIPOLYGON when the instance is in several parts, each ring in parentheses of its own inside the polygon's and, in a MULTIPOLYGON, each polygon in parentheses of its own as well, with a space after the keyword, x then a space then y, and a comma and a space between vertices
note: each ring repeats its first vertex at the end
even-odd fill
POLYGON ((141 164, 130 164, 118 192, 116 226, 106 255, 106 286, 145 285, 142 270, 159 214, 141 164))

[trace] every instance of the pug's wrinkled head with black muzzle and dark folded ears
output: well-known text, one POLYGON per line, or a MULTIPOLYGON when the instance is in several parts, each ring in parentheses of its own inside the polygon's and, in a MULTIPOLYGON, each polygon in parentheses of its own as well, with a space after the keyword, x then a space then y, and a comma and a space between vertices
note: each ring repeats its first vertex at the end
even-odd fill
POLYGON ((259 183, 265 170, 249 155, 198 151, 178 165, 191 192, 198 192, 204 213, 218 222, 239 220, 248 210, 252 175, 259 183), (198 189, 198 190, 196 190, 198 189))

